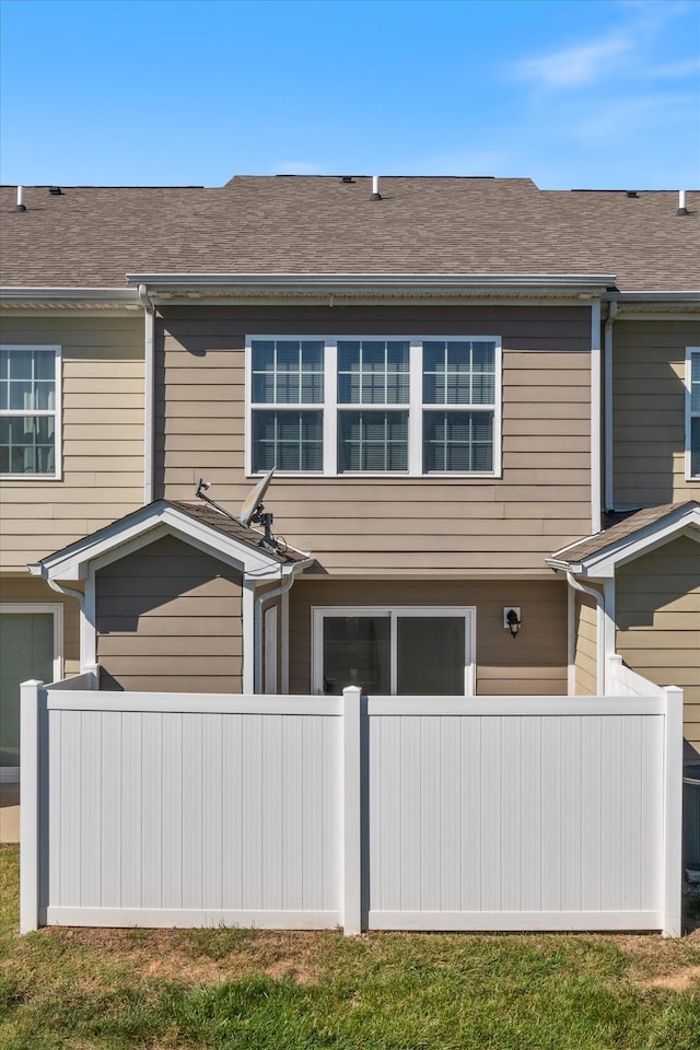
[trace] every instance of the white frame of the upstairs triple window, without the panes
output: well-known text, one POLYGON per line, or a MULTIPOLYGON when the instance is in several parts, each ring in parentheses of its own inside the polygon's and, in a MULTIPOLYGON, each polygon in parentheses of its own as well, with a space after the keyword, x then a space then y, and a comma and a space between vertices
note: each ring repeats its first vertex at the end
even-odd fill
POLYGON ((302 335, 281 334, 267 335, 262 332, 249 332, 245 339, 245 428, 246 428, 246 452, 245 469, 248 477, 260 476, 264 471, 253 469, 253 413, 258 404, 253 402, 253 342, 262 340, 317 340, 323 341, 324 352, 324 400, 315 404, 299 402, 299 405, 268 405, 269 409, 291 409, 298 411, 320 411, 323 413, 323 470, 277 470, 278 477, 290 478, 459 478, 463 480, 480 480, 482 478, 501 478, 501 432, 503 419, 503 368, 502 368, 502 341, 500 336, 495 335, 440 335, 431 334, 424 336, 395 335, 394 332, 383 335, 302 335), (407 405, 338 405, 338 342, 339 341, 405 341, 409 343, 410 360, 410 394, 407 405), (470 405, 427 405, 423 402, 423 358, 422 346, 428 341, 440 340, 466 340, 469 342, 492 342, 494 343, 494 402, 491 406, 470 406, 470 405), (348 410, 386 410, 386 411, 407 411, 408 412, 408 469, 407 470, 387 470, 387 471, 339 471, 338 470, 338 415, 347 408, 348 410), (492 469, 485 471, 469 470, 435 470, 429 474, 423 472, 423 416, 425 411, 475 411, 493 413, 493 450, 492 450, 492 469))

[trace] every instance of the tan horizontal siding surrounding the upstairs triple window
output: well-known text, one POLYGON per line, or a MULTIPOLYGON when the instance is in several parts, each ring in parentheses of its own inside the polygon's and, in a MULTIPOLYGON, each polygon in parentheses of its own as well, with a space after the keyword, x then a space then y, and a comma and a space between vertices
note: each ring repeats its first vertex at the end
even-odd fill
POLYGON ((236 511, 246 334, 493 335, 503 345, 503 476, 275 479, 275 526, 348 575, 535 573, 591 532, 591 311, 544 307, 172 307, 159 320, 156 494, 200 476, 236 511))

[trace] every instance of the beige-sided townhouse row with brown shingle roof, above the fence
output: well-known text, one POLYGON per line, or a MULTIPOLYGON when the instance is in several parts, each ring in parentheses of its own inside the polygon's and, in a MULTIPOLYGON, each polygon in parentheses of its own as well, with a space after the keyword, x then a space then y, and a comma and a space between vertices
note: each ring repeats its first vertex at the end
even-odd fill
POLYGON ((95 665, 604 696, 621 655, 700 749, 698 194, 57 189, 2 190, 5 775, 16 681, 95 665), (220 509, 271 469, 260 547, 220 509))

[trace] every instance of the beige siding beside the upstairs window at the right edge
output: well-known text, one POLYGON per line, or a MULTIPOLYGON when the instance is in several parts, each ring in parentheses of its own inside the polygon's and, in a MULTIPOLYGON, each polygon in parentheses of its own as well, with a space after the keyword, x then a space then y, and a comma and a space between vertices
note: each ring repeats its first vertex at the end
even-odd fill
POLYGON ((698 322, 620 320, 614 340, 614 498, 616 506, 699 500, 686 481, 686 347, 698 322))

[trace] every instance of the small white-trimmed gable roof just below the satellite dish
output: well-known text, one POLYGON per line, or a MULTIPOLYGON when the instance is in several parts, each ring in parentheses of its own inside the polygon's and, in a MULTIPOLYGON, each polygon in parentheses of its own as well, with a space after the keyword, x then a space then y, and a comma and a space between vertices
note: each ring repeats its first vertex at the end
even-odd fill
POLYGON ((262 535, 206 504, 156 500, 126 514, 104 528, 47 555, 30 565, 33 575, 48 580, 84 580, 91 564, 118 560, 135 544, 153 542, 170 533, 191 542, 226 564, 255 579, 279 580, 311 564, 311 556, 295 548, 261 547, 262 535))

